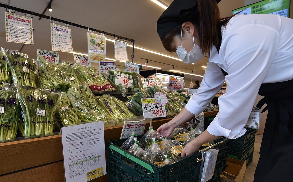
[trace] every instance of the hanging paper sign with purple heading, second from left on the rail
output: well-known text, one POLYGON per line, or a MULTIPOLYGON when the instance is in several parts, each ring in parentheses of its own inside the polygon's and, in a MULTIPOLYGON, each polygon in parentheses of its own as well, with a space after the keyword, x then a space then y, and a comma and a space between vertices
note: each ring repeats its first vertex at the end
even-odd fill
POLYGON ((73 52, 71 28, 51 23, 52 50, 73 52))

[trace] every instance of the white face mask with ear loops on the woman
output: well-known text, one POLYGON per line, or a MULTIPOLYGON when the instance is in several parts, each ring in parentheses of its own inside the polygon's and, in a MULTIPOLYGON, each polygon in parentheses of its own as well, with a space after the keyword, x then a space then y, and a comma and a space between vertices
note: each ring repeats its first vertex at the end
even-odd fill
POLYGON ((179 57, 179 59, 182 60, 184 63, 195 63, 199 61, 201 58, 205 56, 205 54, 202 54, 200 47, 198 47, 197 44, 194 43, 194 37, 193 37, 193 49, 190 52, 187 52, 184 47, 182 47, 182 29, 181 29, 181 46, 179 45, 176 50, 176 55, 179 57))

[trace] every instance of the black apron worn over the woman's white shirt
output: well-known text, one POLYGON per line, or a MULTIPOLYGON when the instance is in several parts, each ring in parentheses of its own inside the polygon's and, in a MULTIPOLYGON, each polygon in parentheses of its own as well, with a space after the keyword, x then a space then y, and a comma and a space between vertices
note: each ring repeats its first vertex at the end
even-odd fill
MULTIPOLYGON (((219 53, 222 43, 221 28, 219 53)), ((224 76, 228 75, 221 68, 224 76)), ((278 83, 261 84, 258 94, 264 96, 256 107, 267 104, 268 116, 260 147, 260 158, 254 182, 293 181, 293 79, 278 83)))

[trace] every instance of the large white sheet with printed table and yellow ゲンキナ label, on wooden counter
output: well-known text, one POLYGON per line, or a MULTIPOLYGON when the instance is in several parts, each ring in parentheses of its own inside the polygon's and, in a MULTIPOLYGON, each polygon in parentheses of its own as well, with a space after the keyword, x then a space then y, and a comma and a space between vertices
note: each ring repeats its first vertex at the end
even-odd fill
POLYGON ((62 127, 66 182, 85 182, 106 174, 104 122, 62 127))

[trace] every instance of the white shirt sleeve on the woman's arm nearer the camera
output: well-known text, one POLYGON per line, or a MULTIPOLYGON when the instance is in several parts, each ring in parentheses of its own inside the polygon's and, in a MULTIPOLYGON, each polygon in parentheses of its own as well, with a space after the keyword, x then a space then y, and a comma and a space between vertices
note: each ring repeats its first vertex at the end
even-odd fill
POLYGON ((260 85, 276 55, 279 33, 265 25, 243 25, 222 39, 220 58, 226 63, 226 94, 207 128, 215 136, 242 136, 260 85))

